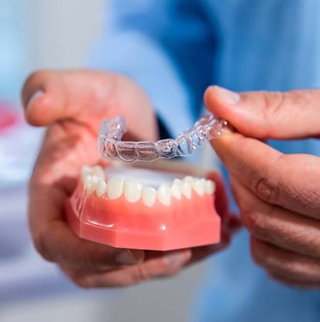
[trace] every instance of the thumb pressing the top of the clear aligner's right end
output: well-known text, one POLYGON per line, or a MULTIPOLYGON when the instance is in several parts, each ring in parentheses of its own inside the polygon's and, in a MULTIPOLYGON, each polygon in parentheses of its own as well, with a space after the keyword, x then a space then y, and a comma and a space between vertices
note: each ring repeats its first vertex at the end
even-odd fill
POLYGON ((227 119, 244 135, 296 139, 320 134, 320 91, 317 89, 238 94, 210 86, 204 100, 213 114, 227 119))

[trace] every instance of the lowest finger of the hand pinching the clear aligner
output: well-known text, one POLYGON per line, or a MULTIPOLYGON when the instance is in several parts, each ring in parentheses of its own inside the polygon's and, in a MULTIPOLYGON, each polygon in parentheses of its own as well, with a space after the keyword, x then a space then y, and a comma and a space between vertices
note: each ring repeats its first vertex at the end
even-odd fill
POLYGON ((273 274, 299 282, 320 283, 320 260, 251 238, 254 262, 273 274))

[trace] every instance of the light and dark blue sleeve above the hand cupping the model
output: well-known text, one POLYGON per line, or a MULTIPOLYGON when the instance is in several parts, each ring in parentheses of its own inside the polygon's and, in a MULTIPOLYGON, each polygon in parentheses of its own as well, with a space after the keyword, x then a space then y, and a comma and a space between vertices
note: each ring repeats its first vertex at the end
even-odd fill
POLYGON ((199 3, 111 1, 89 60, 136 81, 174 135, 198 117, 212 75, 215 41, 199 3))

